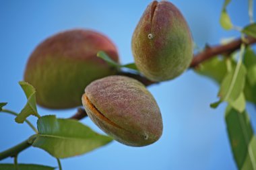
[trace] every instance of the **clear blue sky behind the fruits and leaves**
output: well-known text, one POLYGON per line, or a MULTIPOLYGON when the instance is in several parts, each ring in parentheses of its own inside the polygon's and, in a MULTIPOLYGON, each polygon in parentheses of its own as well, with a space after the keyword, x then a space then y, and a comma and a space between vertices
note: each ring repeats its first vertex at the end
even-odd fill
MULTIPOLYGON (((224 1, 224 0, 223 0, 224 1)), ((223 1, 173 0, 187 19, 199 46, 217 44, 221 38, 237 37, 237 32, 220 28, 223 1)), ((88 28, 106 34, 119 49, 123 63, 133 62, 131 36, 150 1, 0 1, 0 102, 20 112, 26 97, 18 85, 28 56, 35 46, 52 34, 72 28, 88 28)), ((249 23, 247 1, 232 1, 228 12, 237 26, 249 23)), ((225 104, 212 110, 218 87, 209 79, 189 70, 181 77, 149 88, 156 97, 164 121, 160 140, 150 146, 133 148, 112 142, 86 155, 63 159, 64 170, 75 169, 236 169, 230 151, 225 104)), ((256 120, 252 105, 247 105, 256 120)), ((75 109, 52 111, 39 108, 41 115, 71 116, 75 109)), ((36 124, 36 118, 29 118, 36 124)), ((99 130, 89 118, 84 124, 99 130)), ((253 122, 255 125, 255 122, 253 122)), ((25 140, 32 134, 26 124, 15 124, 12 116, 0 114, 0 151, 25 140)), ((1 163, 12 163, 5 159, 1 163)), ((20 163, 57 166, 53 157, 38 148, 29 148, 19 156, 20 163)))

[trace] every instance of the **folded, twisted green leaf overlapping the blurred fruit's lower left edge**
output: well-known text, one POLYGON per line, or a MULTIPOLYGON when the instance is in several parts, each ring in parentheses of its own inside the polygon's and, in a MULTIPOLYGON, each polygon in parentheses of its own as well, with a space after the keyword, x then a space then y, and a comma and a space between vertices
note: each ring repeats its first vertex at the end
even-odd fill
POLYGON ((24 81, 20 81, 19 84, 22 87, 28 99, 25 107, 22 109, 20 114, 15 118, 15 122, 22 124, 30 115, 36 116, 38 118, 40 116, 36 109, 36 89, 34 89, 32 85, 24 81))

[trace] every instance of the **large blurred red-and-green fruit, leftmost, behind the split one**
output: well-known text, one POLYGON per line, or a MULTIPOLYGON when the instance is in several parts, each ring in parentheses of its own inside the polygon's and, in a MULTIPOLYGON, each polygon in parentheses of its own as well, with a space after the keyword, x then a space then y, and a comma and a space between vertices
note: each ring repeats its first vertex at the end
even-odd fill
POLYGON ((40 43, 30 55, 24 80, 36 88, 36 101, 44 108, 74 108, 84 88, 117 69, 96 56, 103 50, 119 61, 117 48, 106 36, 92 30, 67 30, 40 43))

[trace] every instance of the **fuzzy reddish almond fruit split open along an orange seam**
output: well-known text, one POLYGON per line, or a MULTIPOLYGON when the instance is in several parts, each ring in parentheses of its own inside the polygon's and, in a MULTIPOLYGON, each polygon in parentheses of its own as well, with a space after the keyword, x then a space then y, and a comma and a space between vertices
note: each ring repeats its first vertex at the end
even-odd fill
POLYGON ((162 135, 158 104, 135 79, 115 75, 93 81, 82 102, 92 121, 123 144, 146 146, 162 135))

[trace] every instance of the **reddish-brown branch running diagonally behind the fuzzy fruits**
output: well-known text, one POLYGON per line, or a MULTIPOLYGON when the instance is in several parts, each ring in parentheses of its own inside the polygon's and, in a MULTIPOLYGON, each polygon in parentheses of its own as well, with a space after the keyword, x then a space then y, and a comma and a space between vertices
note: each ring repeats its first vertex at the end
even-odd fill
MULTIPOLYGON (((209 46, 209 47, 205 48, 205 50, 203 50, 202 52, 199 52, 198 54, 194 55, 194 58, 190 65, 190 68, 195 68, 201 62, 208 60, 214 56, 217 56, 218 54, 225 54, 225 53, 229 54, 231 52, 234 52, 235 50, 238 50, 240 48, 240 46, 243 42, 245 42, 245 44, 247 44, 247 45, 255 44, 256 38, 247 37, 245 39, 245 41, 243 41, 241 38, 238 38, 236 40, 233 40, 232 42, 229 42, 228 44, 209 46)), ((118 75, 125 75, 127 77, 132 77, 134 79, 137 79, 138 81, 140 81, 141 83, 143 83, 146 86, 159 83, 159 82, 150 81, 146 77, 143 77, 141 75, 134 74, 134 73, 121 72, 121 73, 118 73, 118 75)), ((82 108, 79 108, 77 110, 77 113, 75 115, 71 116, 71 119, 81 120, 82 118, 85 118, 86 116, 88 116, 86 114, 86 111, 82 108)))

